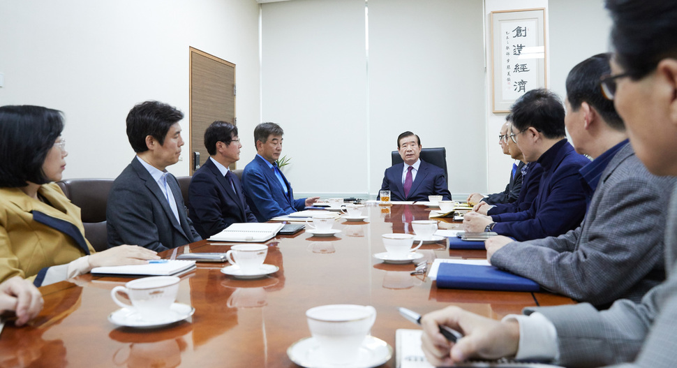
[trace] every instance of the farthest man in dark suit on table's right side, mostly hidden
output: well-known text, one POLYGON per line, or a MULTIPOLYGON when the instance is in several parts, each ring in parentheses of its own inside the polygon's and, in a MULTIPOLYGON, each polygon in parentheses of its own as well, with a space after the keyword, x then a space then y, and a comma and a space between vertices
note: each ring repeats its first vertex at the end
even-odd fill
MULTIPOLYGON (((468 199, 466 199, 466 202, 468 202, 469 205, 474 205, 477 207, 477 205, 480 204, 498 205, 503 203, 513 203, 519 198, 519 193, 522 189, 522 169, 524 168, 525 163, 516 157, 522 157, 521 152, 513 153, 508 147, 509 138, 507 132, 511 121, 512 115, 507 115, 507 117, 505 117, 505 124, 501 126, 500 134, 498 135, 498 144, 500 144, 500 148, 503 149, 503 154, 511 156, 512 159, 518 162, 512 164, 510 179, 508 184, 505 186, 505 191, 489 194, 487 196, 482 196, 481 193, 472 193, 468 196, 468 199)), ((477 208, 475 210, 477 210, 477 208)))

